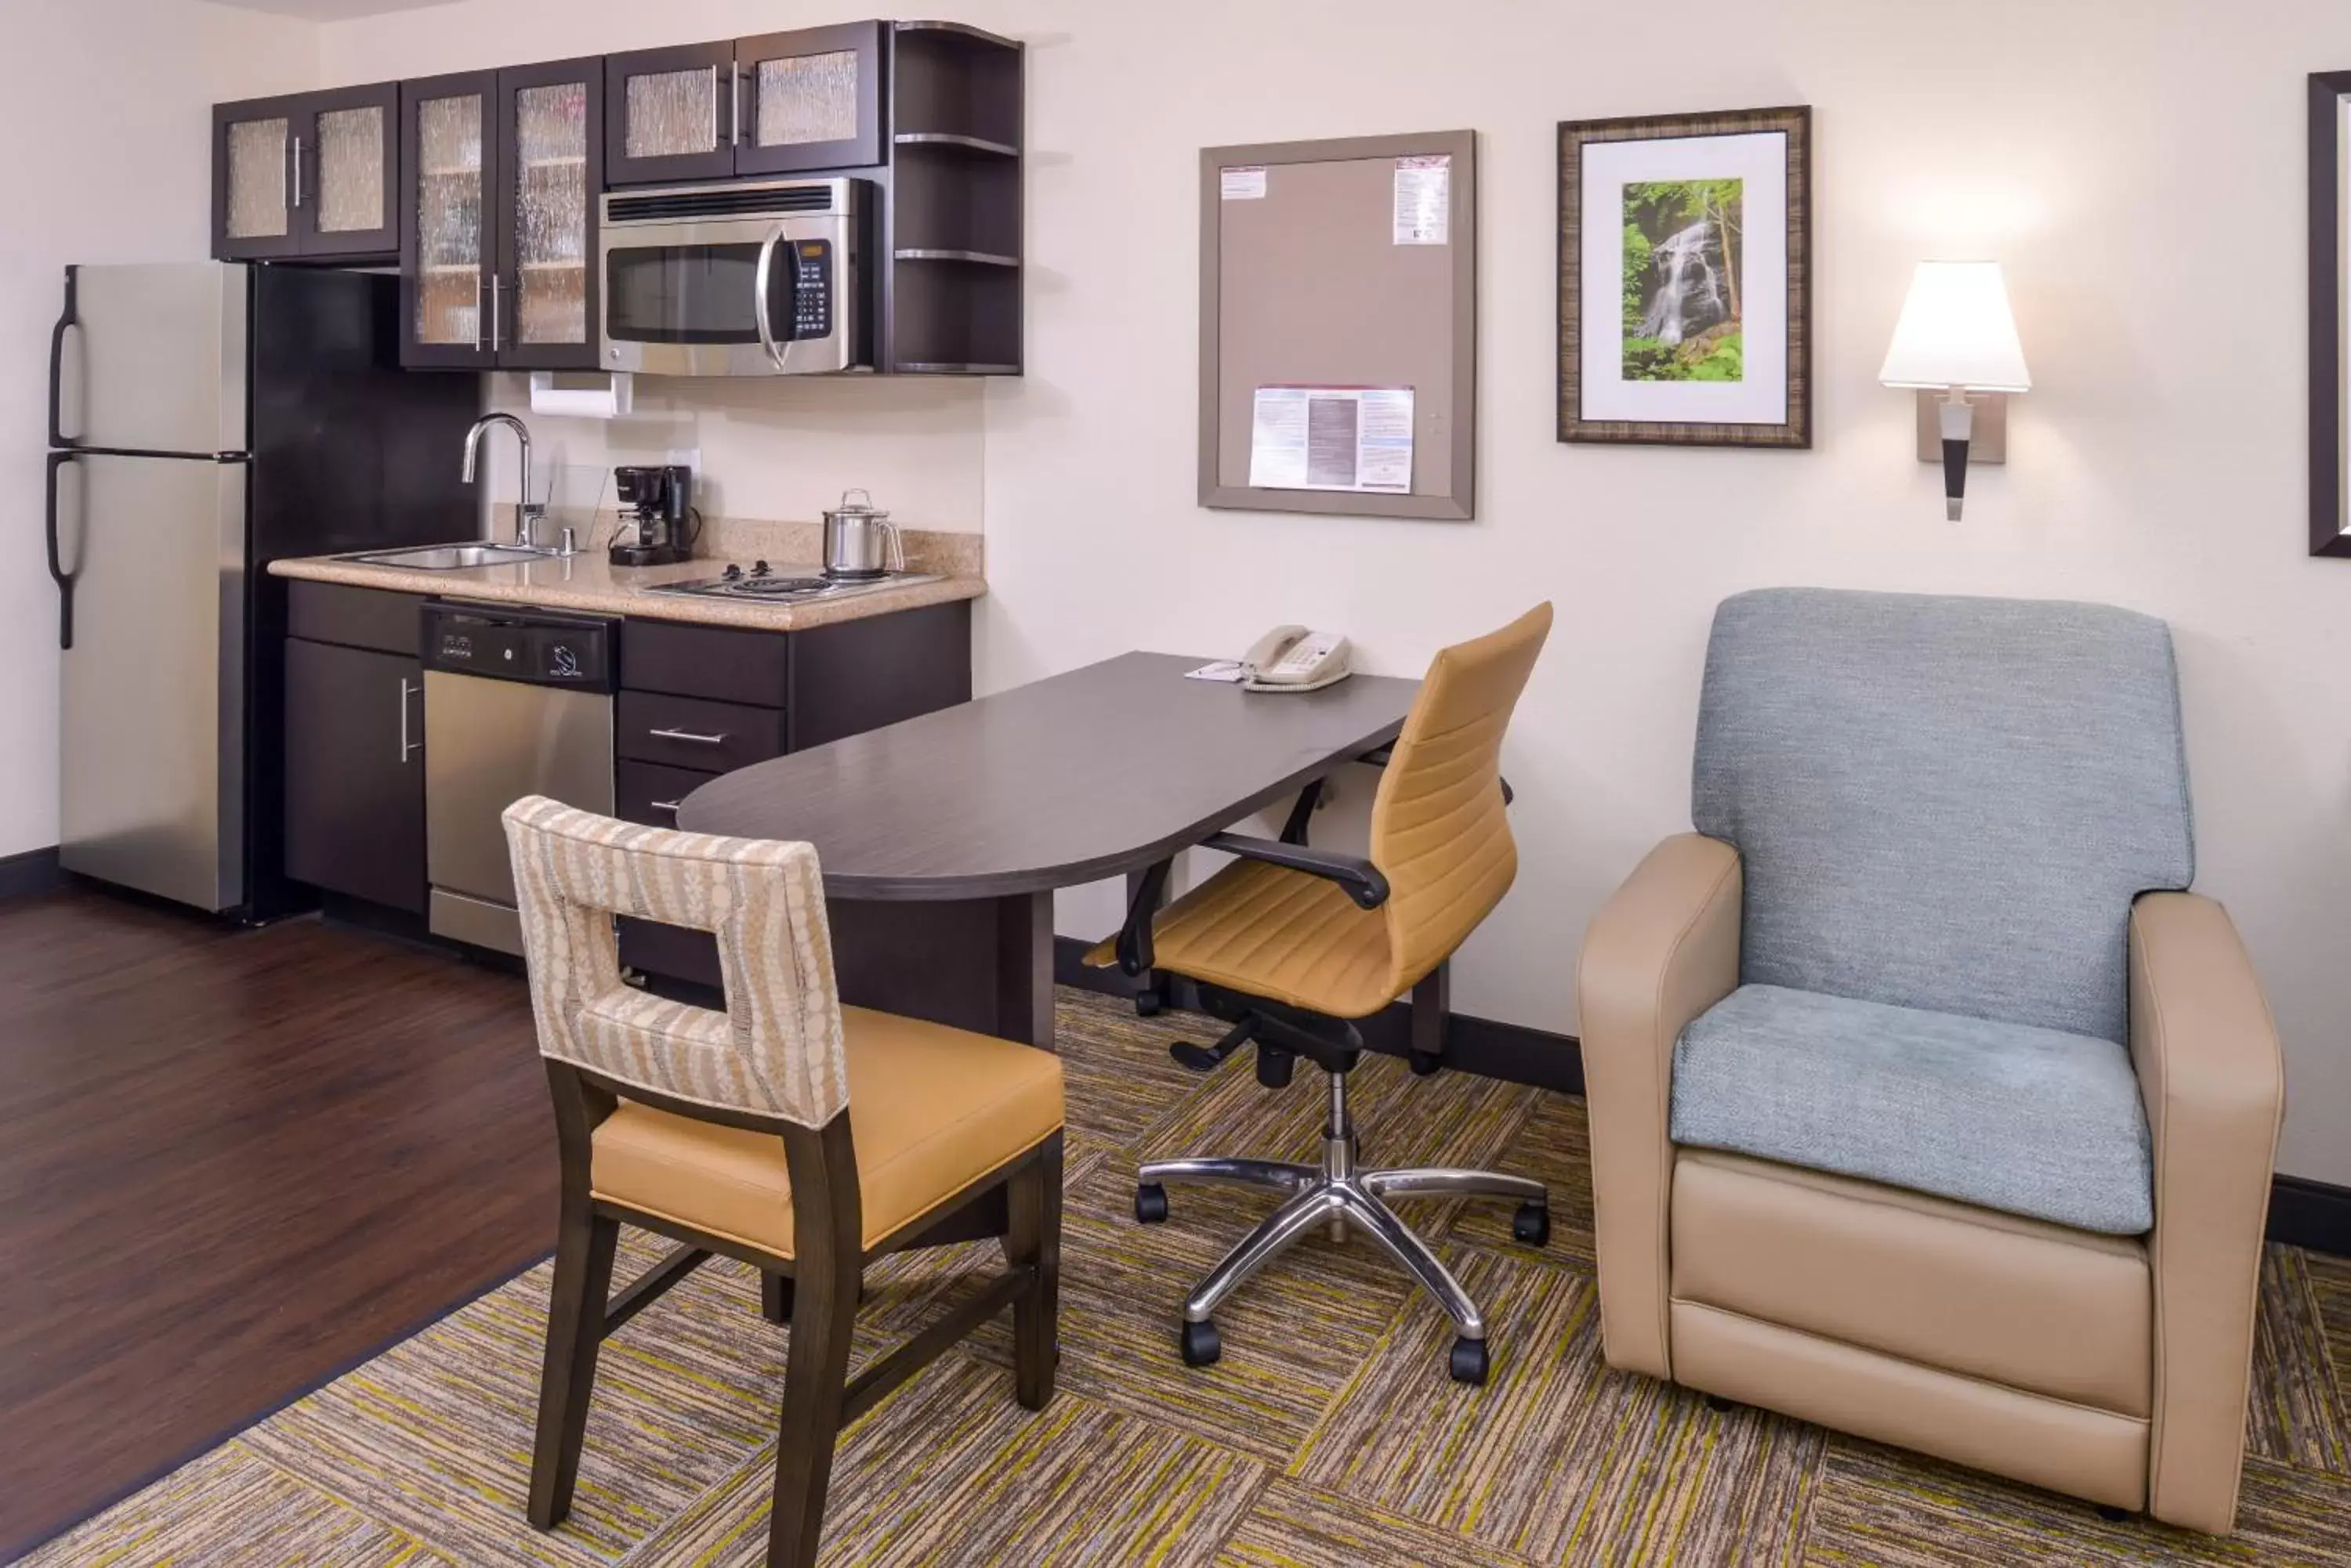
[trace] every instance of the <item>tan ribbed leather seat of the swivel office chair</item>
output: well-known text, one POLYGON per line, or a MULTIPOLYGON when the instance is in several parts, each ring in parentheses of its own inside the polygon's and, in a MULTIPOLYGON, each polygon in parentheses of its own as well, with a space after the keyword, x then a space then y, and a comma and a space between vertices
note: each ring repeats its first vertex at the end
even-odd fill
MULTIPOLYGON (((1117 959, 1117 940, 1086 954, 1117 959)), ((1387 917, 1324 877, 1234 860, 1152 924, 1152 964, 1333 1018, 1364 1018, 1387 992, 1387 917)))

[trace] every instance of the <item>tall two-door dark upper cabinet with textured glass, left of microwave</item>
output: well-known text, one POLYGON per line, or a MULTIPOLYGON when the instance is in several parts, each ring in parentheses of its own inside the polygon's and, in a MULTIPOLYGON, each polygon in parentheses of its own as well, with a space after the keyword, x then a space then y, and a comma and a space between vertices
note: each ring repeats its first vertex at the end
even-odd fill
POLYGON ((400 87, 402 364, 592 369, 604 61, 400 87))

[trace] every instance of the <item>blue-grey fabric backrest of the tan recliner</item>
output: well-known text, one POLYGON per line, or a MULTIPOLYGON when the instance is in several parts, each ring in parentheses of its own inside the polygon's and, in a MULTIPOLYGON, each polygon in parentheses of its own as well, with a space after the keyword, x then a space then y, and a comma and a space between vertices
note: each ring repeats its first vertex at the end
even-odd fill
POLYGON ((2114 1041, 2130 900, 2196 872, 2170 628, 2104 604, 1726 599, 1690 797, 1742 983, 2114 1041))

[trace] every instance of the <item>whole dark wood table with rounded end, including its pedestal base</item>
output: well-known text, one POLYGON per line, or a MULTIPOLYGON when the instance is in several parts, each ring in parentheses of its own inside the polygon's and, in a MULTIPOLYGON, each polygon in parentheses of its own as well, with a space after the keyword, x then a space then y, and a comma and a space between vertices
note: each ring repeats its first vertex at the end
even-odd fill
POLYGON ((1404 729, 1420 682, 1321 691, 1185 679, 1121 654, 726 773, 691 832, 804 839, 842 999, 1053 1046, 1053 889, 1133 875, 1404 729))

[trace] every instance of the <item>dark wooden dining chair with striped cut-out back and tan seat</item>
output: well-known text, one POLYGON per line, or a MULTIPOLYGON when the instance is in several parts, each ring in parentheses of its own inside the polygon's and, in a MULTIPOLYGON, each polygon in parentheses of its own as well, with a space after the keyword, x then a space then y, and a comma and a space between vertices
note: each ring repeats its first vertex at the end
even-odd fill
POLYGON ((759 1269, 764 1316, 792 1326, 766 1561, 809 1568, 842 1427, 1006 1305, 1013 1396, 1053 1396, 1060 1058, 842 1006, 806 844, 536 795, 505 809, 505 839, 562 1150, 531 1523, 571 1512, 600 1342, 717 1253, 759 1269), (726 1011, 628 990, 614 914, 715 933, 726 1011), (1009 1267, 851 1378, 865 1265, 969 1213, 1002 1229, 1009 1267), (621 1225, 677 1248, 611 1295, 621 1225))

